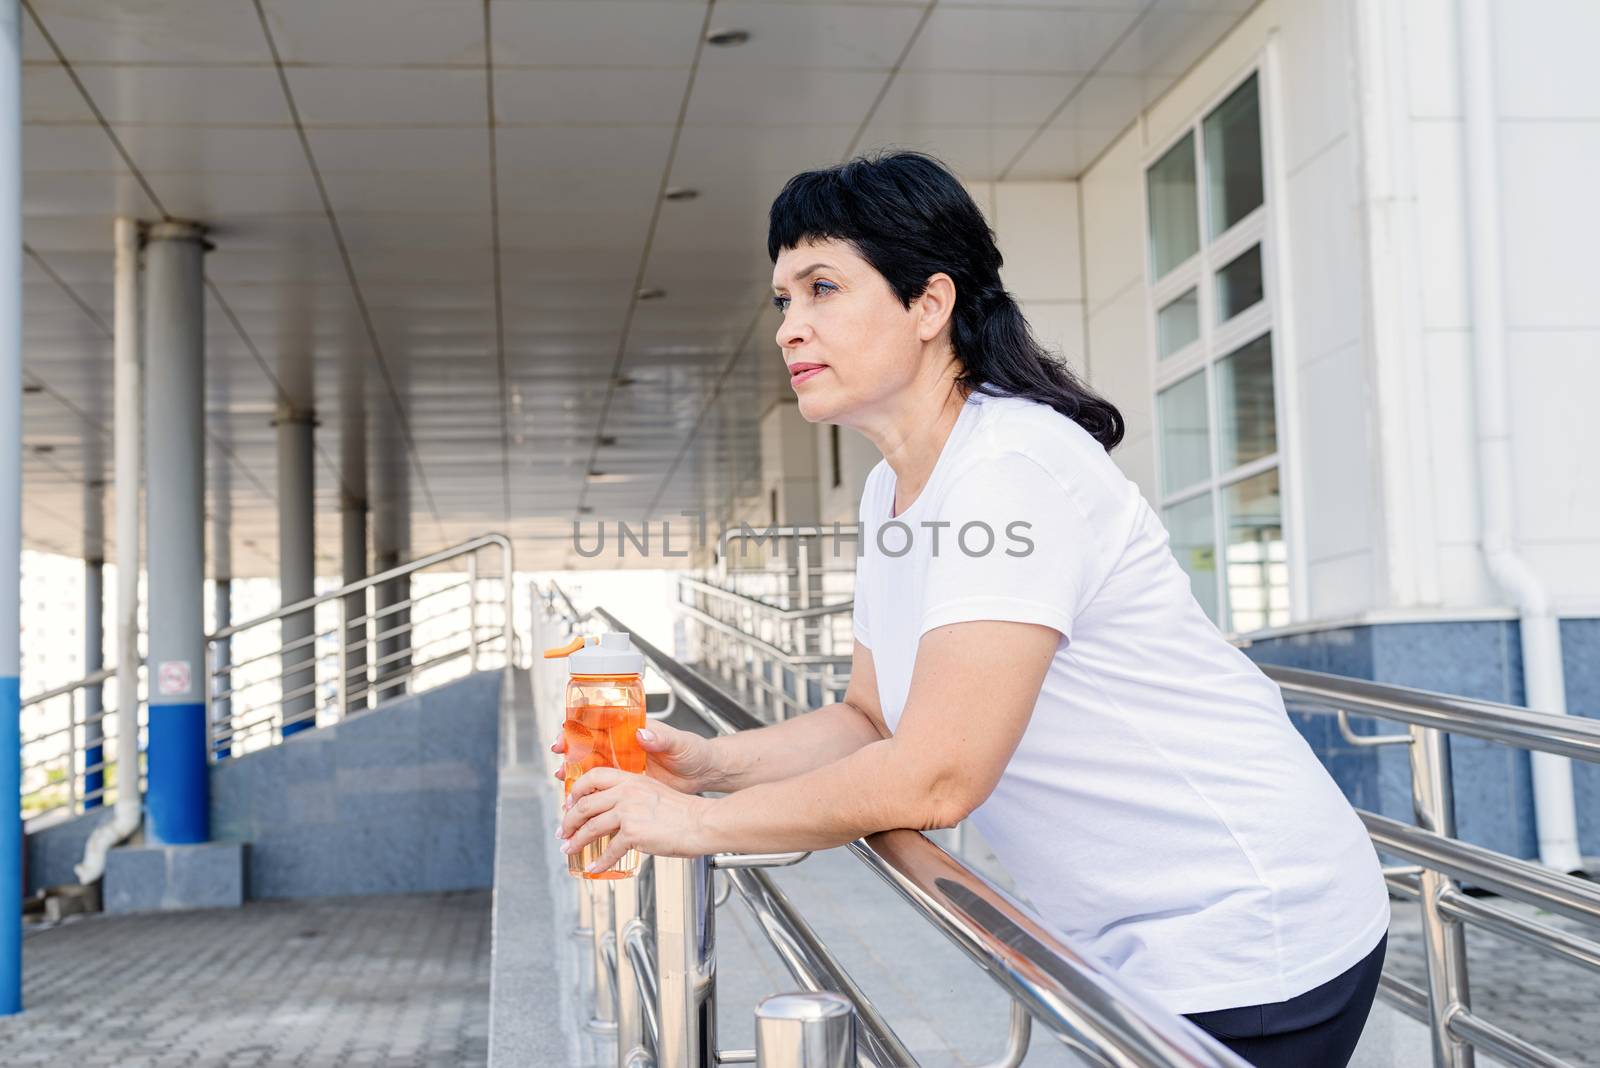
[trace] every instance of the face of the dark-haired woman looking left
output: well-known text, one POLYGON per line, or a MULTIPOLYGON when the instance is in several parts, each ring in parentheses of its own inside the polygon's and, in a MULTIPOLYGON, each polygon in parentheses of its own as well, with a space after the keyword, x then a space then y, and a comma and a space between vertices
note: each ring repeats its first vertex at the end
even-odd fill
POLYGON ((920 301, 904 307, 848 243, 808 241, 779 253, 773 294, 784 313, 778 347, 806 420, 858 425, 917 376, 926 320, 920 301))

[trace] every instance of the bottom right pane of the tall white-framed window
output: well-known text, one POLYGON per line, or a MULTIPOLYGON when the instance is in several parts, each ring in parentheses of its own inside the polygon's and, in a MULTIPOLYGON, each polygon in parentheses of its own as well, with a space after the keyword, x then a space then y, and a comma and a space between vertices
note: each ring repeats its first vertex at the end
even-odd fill
POLYGON ((1222 523, 1229 628, 1243 633, 1290 622, 1278 472, 1262 472, 1222 491, 1222 523))

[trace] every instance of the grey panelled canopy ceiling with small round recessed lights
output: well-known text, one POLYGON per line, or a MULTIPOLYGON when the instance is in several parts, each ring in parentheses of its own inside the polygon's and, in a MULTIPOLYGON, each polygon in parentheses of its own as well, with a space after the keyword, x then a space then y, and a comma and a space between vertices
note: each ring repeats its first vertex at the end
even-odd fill
POLYGON ((722 50, 694 0, 32 0, 24 537, 85 552, 110 473, 118 214, 216 245, 208 513, 234 574, 275 569, 283 403, 318 416, 323 569, 344 494, 406 508, 418 553, 506 529, 523 568, 582 564, 578 516, 758 486, 790 174, 904 144, 1070 177, 1246 6, 722 0, 752 35, 722 50))

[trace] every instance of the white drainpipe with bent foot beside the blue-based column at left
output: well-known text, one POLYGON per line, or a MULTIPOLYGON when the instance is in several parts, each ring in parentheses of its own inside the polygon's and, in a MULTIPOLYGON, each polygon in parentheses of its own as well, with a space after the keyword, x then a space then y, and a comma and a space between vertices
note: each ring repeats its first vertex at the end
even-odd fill
POLYGON ((139 224, 117 219, 117 288, 112 337, 117 486, 117 807, 72 865, 88 886, 106 873, 106 854, 139 830, 139 454, 142 441, 139 366, 139 224))

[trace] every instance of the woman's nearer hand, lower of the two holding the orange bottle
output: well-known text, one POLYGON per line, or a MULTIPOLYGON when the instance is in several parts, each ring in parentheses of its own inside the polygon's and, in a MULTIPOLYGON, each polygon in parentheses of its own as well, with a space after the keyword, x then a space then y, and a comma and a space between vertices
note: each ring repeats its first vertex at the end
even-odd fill
POLYGON ((715 804, 672 787, 616 767, 595 767, 573 783, 562 827, 555 831, 562 852, 578 852, 603 835, 614 835, 606 851, 589 865, 605 871, 629 849, 654 857, 698 857, 702 819, 715 804))

